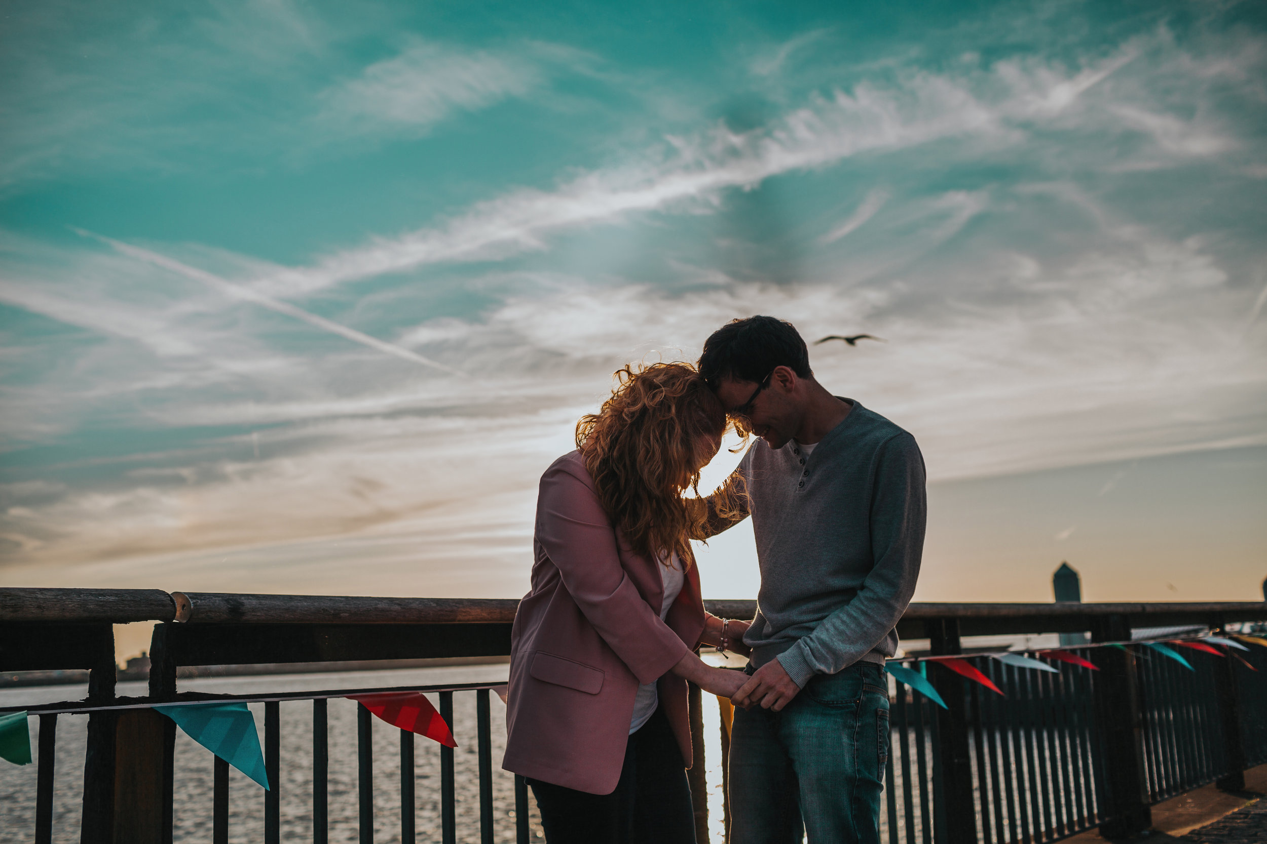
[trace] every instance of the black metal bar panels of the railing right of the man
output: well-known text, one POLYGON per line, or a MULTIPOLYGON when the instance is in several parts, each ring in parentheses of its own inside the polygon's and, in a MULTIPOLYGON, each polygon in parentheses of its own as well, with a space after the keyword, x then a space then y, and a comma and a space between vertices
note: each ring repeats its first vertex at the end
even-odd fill
MULTIPOLYGON (((1068 648, 1091 662, 1109 655, 1096 648, 1068 648)), ((1267 760, 1267 731, 1254 729, 1267 719, 1267 650, 1244 658, 1257 671, 1232 666, 1226 657, 1185 652, 1194 671, 1161 654, 1134 654, 1134 672, 1143 702, 1139 715, 1144 802, 1216 782, 1233 773, 1228 723, 1220 712, 1219 674, 1235 672, 1237 725, 1244 757, 1237 772, 1267 760)), ((891 753, 886 782, 883 840, 930 844, 953 838, 946 829, 946 804, 962 800, 971 786, 974 836, 995 841, 1053 841, 1115 819, 1106 791, 1110 758, 1101 724, 1117 712, 1097 711, 1105 690, 1101 672, 1066 667, 1059 674, 967 658, 996 686, 998 696, 977 683, 964 683, 971 777, 950 797, 944 771, 940 709, 896 680, 891 704, 891 753)), ((939 671, 936 667, 934 672, 939 671)), ((953 687, 944 674, 936 681, 953 687)), ((1106 680, 1106 678, 1105 678, 1106 680)), ((1129 716, 1129 712, 1126 714, 1129 716)), ((1233 790, 1243 781, 1229 783, 1233 790)), ((960 829, 963 829, 960 826, 960 829)))

